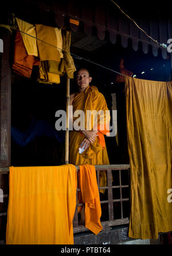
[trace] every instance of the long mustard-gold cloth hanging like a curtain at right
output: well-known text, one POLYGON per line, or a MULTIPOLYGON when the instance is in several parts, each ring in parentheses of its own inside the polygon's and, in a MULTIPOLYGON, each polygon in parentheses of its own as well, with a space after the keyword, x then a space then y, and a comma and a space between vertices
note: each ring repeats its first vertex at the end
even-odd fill
POLYGON ((131 165, 129 236, 157 239, 172 230, 172 82, 126 77, 131 165))

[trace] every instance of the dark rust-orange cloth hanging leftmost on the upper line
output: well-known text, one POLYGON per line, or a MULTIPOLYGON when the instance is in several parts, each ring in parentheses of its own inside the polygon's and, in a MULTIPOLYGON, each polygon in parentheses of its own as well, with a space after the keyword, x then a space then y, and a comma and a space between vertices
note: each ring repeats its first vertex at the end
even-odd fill
POLYGON ((12 65, 14 72, 29 78, 32 74, 33 65, 39 66, 40 60, 26 53, 21 34, 17 31, 14 41, 14 61, 12 65))

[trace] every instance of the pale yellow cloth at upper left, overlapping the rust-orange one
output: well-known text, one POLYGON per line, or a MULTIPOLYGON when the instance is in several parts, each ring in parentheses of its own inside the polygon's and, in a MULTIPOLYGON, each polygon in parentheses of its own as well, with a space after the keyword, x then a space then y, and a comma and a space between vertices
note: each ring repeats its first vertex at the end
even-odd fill
POLYGON ((26 52, 28 55, 34 55, 35 57, 38 57, 38 49, 37 49, 37 41, 36 37, 36 28, 33 24, 30 24, 26 21, 21 20, 20 18, 16 18, 17 25, 20 31, 23 31, 24 33, 21 33, 22 40, 24 42, 24 46, 26 49, 26 52), (26 35, 25 33, 29 34, 26 35), (32 37, 33 36, 33 37, 32 37))

